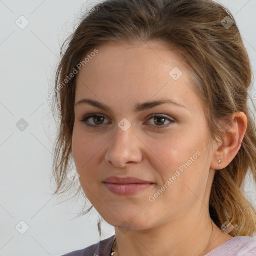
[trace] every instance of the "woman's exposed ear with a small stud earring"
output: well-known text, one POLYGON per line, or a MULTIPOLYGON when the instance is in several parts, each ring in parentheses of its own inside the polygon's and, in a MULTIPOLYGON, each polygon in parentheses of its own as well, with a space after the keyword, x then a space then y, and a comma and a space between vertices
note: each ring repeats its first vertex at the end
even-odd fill
POLYGON ((231 116, 231 120, 225 125, 221 141, 216 143, 210 165, 212 169, 223 169, 234 159, 241 147, 247 124, 248 119, 245 113, 236 112, 231 116), (220 164, 218 164, 219 160, 221 160, 220 164))

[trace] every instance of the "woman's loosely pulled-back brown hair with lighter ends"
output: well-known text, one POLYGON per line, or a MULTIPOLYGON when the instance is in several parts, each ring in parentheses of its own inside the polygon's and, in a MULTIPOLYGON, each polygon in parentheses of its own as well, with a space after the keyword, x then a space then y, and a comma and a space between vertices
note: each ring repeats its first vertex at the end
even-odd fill
POLYGON ((65 192, 71 184, 66 186, 66 175, 72 159, 76 75, 61 88, 59 84, 100 45, 151 40, 175 48, 193 70, 193 88, 203 104, 212 141, 220 138, 224 128, 220 120, 228 123, 233 113, 246 114, 248 126, 240 150, 227 167, 215 173, 209 212, 218 227, 226 220, 234 226, 230 235, 253 236, 256 211, 243 190, 249 170, 256 182, 256 128, 247 105, 251 66, 232 14, 212 0, 107 0, 82 17, 61 47, 55 77, 53 112, 57 111, 60 123, 54 144, 54 194, 65 192), (234 22, 229 28, 221 23, 226 16, 234 22))

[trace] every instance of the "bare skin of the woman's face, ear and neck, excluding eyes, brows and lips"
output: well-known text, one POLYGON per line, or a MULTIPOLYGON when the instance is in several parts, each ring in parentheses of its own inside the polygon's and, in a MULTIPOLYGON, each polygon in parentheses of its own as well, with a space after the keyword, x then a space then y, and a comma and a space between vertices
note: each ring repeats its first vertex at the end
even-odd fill
POLYGON ((115 226, 115 255, 205 255, 233 238, 211 220, 208 203, 216 171, 237 154, 247 118, 233 114, 230 128, 218 143, 209 130, 199 97, 191 89, 191 70, 159 41, 105 44, 79 71, 75 103, 89 98, 111 111, 82 103, 75 105, 72 155, 82 189, 99 214, 115 226), (169 72, 178 67, 174 80, 169 72), (135 104, 169 98, 183 104, 162 104, 135 113, 135 104), (90 113, 105 119, 87 127, 90 113), (163 124, 151 114, 166 117, 163 124), (118 123, 126 118, 126 131, 118 123), (168 121, 168 119, 174 122, 168 121), (163 127, 163 128, 161 128, 163 127), (200 152, 188 168, 153 202, 149 196, 200 152), (221 163, 218 164, 218 160, 221 163), (135 195, 117 195, 103 180, 110 176, 137 177, 154 183, 135 195), (126 225, 125 231, 119 225, 126 225))

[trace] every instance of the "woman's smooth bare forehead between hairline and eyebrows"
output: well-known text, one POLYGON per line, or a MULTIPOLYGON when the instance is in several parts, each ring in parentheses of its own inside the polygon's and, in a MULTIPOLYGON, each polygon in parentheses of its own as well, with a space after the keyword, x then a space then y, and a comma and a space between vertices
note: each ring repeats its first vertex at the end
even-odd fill
MULTIPOLYGON (((98 53, 78 72, 76 102, 85 96, 126 105, 161 96, 182 103, 188 94, 191 98, 190 70, 164 43, 111 43, 97 49, 98 53)), ((191 105, 195 103, 192 101, 191 105)))

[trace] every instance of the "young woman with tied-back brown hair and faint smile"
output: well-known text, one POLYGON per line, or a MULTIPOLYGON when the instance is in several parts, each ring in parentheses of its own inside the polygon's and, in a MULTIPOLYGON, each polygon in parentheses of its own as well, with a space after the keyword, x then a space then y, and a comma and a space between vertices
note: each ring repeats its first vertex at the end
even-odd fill
POLYGON ((115 235, 66 255, 256 255, 242 190, 249 170, 256 181, 250 84, 218 3, 109 0, 87 13, 56 73, 55 193, 73 158, 115 235))

